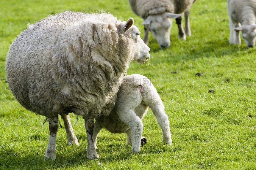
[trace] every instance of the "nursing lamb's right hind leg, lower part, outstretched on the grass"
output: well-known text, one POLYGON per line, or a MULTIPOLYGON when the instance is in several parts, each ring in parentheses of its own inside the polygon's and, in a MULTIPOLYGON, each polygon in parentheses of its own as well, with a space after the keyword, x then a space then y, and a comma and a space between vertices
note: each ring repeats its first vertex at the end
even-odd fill
POLYGON ((171 145, 171 133, 170 133, 170 123, 168 120, 168 116, 166 115, 164 111, 163 103, 153 104, 152 106, 149 106, 152 110, 153 114, 157 118, 157 123, 160 125, 160 128, 163 132, 163 142, 168 143, 171 145))

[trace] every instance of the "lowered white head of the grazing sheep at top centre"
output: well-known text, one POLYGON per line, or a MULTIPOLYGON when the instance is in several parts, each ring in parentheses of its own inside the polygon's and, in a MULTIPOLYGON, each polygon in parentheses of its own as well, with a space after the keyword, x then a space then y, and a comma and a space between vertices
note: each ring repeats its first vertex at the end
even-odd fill
POLYGON ((145 28, 151 31, 162 49, 170 46, 170 32, 172 18, 178 18, 181 14, 165 12, 159 15, 149 15, 142 23, 145 28))

